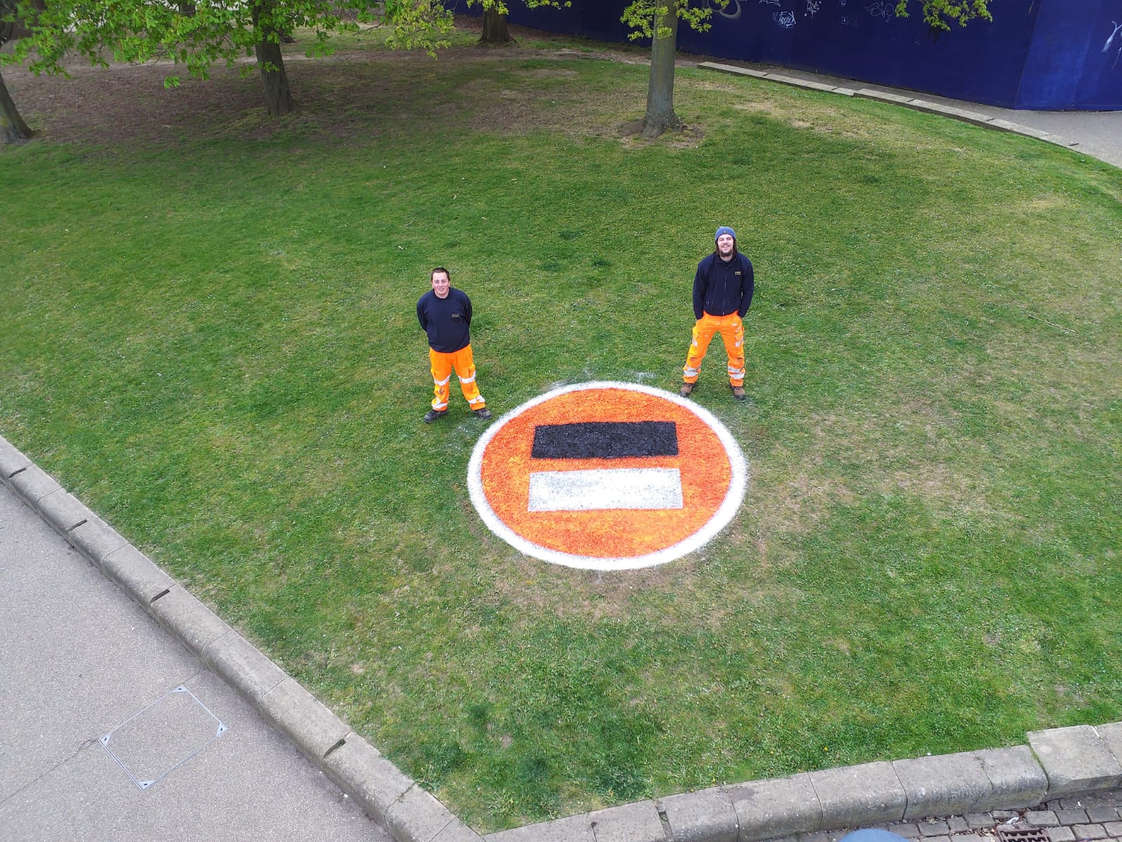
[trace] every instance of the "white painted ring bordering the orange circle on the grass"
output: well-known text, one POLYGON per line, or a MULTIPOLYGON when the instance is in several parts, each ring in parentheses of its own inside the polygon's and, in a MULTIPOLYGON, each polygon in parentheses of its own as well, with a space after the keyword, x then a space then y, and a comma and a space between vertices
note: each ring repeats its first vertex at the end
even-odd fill
POLYGON ((537 397, 526 401, 526 403, 523 403, 519 406, 515 406, 491 424, 487 432, 479 437, 479 440, 476 442, 476 446, 471 451, 471 459, 468 461, 468 492, 471 495, 471 504, 476 507, 476 512, 479 513, 479 516, 491 532, 526 556, 531 556, 532 558, 536 558, 542 561, 549 561, 550 564, 563 565, 564 567, 577 567, 585 570, 634 570, 641 567, 654 567, 655 565, 662 565, 666 561, 673 561, 688 552, 700 549, 705 544, 709 543, 709 541, 711 541, 717 533, 727 527, 733 518, 736 516, 736 513, 741 507, 741 503, 744 502, 744 494, 746 493, 747 487, 747 460, 744 458, 744 454, 741 451, 739 445, 736 443, 736 439, 733 438, 728 428, 726 428, 716 415, 692 401, 687 401, 684 397, 675 395, 672 392, 654 388, 653 386, 644 386, 640 383, 592 381, 590 383, 578 383, 572 386, 561 386, 541 394, 537 397), (728 457, 728 464, 733 473, 728 481, 728 491, 725 494, 725 498, 721 501, 717 511, 714 512, 712 516, 706 521, 705 525, 687 538, 683 538, 678 543, 671 544, 670 547, 665 547, 655 552, 649 552, 644 556, 603 558, 599 556, 578 556, 571 552, 561 552, 560 550, 551 550, 548 547, 542 547, 523 538, 511 529, 495 513, 495 510, 490 507, 490 503, 487 502, 487 495, 484 494, 484 451, 487 449, 487 446, 499 430, 527 410, 533 409, 540 403, 545 403, 546 401, 550 401, 559 395, 568 394, 570 392, 586 392, 589 390, 604 388, 622 388, 628 392, 642 392, 643 394, 662 397, 663 400, 677 403, 679 406, 689 410, 695 415, 700 418, 706 425, 717 434, 717 438, 720 439, 720 443, 725 448, 725 455, 728 457))

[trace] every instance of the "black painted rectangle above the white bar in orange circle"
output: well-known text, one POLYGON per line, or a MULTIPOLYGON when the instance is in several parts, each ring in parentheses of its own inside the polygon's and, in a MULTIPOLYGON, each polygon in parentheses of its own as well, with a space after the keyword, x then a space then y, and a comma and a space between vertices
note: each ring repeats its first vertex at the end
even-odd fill
POLYGON ((622 459, 678 456, 673 421, 585 421, 534 428, 534 459, 622 459))

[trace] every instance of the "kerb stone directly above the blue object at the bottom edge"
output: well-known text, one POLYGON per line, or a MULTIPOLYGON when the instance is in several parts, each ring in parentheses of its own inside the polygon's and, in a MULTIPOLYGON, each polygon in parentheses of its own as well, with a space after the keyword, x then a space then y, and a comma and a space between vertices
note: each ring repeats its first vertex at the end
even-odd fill
POLYGON ((822 807, 822 827, 866 827, 899 822, 908 795, 892 763, 862 763, 810 772, 822 807))

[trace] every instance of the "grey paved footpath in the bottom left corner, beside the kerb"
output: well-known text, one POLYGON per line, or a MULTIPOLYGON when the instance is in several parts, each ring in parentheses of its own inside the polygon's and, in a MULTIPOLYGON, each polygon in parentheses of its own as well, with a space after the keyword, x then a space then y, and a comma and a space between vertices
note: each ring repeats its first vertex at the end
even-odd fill
POLYGON ((3 842, 389 841, 2 484, 0 592, 3 842))

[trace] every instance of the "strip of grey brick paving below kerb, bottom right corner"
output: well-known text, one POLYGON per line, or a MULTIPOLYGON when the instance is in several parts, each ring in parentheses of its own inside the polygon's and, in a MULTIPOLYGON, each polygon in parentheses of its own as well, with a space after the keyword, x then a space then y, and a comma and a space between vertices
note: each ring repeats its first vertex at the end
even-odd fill
MULTIPOLYGON (((1122 842, 1122 788, 1056 798, 1028 809, 925 816, 879 826, 916 842, 1002 842, 999 829, 1039 830, 1048 842, 1122 842)), ((845 833, 802 833, 774 842, 837 842, 845 833)))

